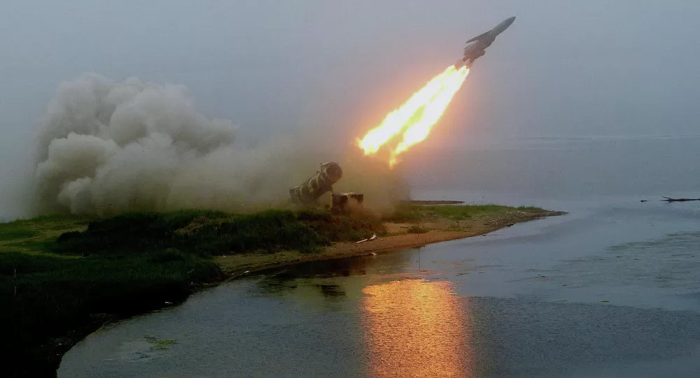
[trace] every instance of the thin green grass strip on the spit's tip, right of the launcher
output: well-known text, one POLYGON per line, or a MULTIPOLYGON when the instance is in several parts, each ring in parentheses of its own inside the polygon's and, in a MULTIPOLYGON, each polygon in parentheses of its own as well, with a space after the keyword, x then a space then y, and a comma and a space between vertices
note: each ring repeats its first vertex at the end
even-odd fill
POLYGON ((409 222, 435 220, 438 218, 461 221, 466 219, 478 219, 479 217, 507 214, 509 212, 544 212, 540 208, 521 206, 512 208, 502 205, 399 205, 394 214, 388 217, 388 221, 409 222))

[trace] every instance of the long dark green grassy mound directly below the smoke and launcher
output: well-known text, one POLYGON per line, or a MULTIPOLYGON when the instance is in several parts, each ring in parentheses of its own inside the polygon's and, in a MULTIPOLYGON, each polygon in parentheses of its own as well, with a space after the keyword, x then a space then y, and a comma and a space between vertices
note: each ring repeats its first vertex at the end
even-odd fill
POLYGON ((223 212, 134 212, 91 222, 85 231, 64 233, 48 249, 57 254, 127 256, 180 251, 195 256, 315 252, 334 241, 381 233, 379 219, 337 217, 320 210, 223 212))

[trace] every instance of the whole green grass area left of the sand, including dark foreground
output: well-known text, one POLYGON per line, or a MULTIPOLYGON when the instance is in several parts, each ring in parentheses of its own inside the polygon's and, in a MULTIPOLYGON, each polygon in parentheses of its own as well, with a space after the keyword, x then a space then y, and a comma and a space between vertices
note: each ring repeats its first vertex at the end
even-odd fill
POLYGON ((313 253, 333 241, 383 233, 379 219, 266 210, 132 212, 107 219, 55 216, 0 223, 0 322, 5 376, 55 374, 55 339, 91 323, 183 300, 221 279, 211 256, 313 253), (15 368, 16 367, 16 368, 15 368))

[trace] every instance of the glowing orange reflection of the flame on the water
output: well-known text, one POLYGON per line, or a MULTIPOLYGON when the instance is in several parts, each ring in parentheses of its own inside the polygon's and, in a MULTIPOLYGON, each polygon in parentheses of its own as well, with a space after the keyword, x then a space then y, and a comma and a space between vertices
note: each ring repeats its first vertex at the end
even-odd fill
POLYGON ((363 289, 372 377, 465 377, 465 311, 449 282, 405 279, 363 289))

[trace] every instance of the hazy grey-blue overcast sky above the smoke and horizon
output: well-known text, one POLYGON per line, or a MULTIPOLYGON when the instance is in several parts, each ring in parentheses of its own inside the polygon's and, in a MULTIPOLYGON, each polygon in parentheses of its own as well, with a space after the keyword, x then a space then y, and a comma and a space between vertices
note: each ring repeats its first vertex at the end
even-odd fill
POLYGON ((512 15, 429 143, 700 133, 700 1, 6 0, 0 161, 85 71, 184 84, 248 138, 351 139, 512 15))

